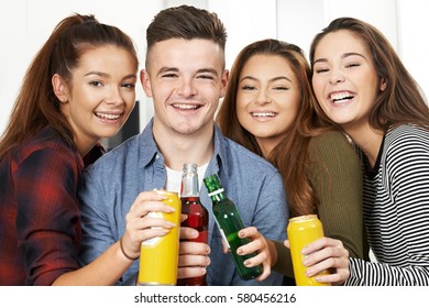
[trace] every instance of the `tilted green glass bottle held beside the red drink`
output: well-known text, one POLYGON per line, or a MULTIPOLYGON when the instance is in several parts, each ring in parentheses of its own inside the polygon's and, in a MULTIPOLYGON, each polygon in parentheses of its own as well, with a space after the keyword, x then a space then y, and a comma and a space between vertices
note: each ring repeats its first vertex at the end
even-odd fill
POLYGON ((262 265, 246 267, 244 261, 253 257, 256 253, 248 255, 238 255, 237 250, 250 242, 249 239, 240 239, 239 231, 244 229, 243 222, 237 211, 235 205, 227 198, 223 187, 218 175, 210 175, 204 179, 209 196, 213 205, 215 220, 223 240, 228 243, 228 248, 234 260, 237 271, 242 279, 249 280, 262 274, 262 265))

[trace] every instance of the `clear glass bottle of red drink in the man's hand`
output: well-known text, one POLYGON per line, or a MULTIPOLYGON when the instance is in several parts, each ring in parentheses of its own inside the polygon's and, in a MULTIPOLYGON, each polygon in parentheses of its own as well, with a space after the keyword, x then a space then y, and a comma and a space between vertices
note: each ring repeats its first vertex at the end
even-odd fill
MULTIPOLYGON (((182 222, 183 227, 196 229, 199 232, 197 239, 187 240, 193 242, 207 243, 209 212, 201 205, 199 199, 197 165, 191 163, 184 164, 182 176, 182 213, 188 218, 182 222)), ((206 275, 194 278, 183 278, 177 280, 178 286, 207 286, 206 275)))

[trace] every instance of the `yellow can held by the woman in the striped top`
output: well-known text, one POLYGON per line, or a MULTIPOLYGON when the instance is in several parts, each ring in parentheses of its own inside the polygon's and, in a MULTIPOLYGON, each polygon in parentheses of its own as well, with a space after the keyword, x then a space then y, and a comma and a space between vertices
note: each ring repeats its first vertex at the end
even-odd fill
MULTIPOLYGON (((292 262, 294 265, 295 283, 297 286, 329 286, 327 283, 319 283, 314 277, 306 276, 306 267, 302 265, 305 255, 301 250, 309 243, 323 237, 323 227, 317 215, 307 215, 289 219, 287 237, 290 244, 292 262)), ((327 275, 323 272, 319 275, 327 275)))

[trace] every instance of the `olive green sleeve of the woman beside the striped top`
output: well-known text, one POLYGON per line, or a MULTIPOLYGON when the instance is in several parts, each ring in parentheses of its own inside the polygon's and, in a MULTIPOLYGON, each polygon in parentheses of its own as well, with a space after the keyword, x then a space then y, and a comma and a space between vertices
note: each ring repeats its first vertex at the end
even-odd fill
POLYGON ((319 200, 324 235, 340 240, 350 256, 369 258, 362 215, 359 157, 340 132, 314 139, 309 147, 311 186, 319 200))

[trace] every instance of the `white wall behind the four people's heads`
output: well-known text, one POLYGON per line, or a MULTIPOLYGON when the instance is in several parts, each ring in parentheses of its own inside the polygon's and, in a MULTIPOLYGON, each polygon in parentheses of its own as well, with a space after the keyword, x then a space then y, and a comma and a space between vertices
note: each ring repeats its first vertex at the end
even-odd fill
MULTIPOLYGON (((180 3, 215 11, 228 31, 227 66, 246 44, 276 37, 308 52, 312 36, 337 16, 350 15, 373 23, 396 47, 409 72, 429 94, 429 40, 425 0, 2 0, 0 11, 0 133, 4 130, 21 79, 31 59, 54 26, 74 12, 92 13, 103 23, 119 26, 136 43, 144 63, 145 29, 165 7, 180 3)), ((151 101, 138 87, 141 123, 152 116, 151 101)))

